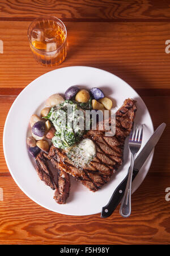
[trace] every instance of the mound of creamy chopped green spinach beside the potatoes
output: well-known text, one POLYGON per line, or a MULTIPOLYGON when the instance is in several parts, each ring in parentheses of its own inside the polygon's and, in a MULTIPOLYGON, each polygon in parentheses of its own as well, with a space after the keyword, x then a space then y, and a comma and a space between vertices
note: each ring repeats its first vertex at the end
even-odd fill
MULTIPOLYGON (((65 102, 56 107, 52 107, 48 115, 44 117, 50 120, 56 128, 52 142, 57 148, 70 148, 79 142, 86 132, 84 127, 84 112, 81 112, 82 115, 77 114, 77 110, 83 108, 80 106, 81 104, 87 103, 65 100, 65 102), (80 124, 82 124, 83 127, 80 124)), ((88 103, 88 106, 90 106, 90 104, 91 103, 88 103)))

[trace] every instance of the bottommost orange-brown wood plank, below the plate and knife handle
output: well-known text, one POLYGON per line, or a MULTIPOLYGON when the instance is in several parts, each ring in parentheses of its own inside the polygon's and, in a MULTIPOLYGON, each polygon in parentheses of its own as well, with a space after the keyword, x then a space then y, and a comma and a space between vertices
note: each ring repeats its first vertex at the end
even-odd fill
POLYGON ((100 214, 67 216, 32 202, 12 178, 0 177, 0 244, 169 244, 170 203, 165 188, 170 178, 147 177, 132 196, 127 219, 119 207, 108 219, 100 214))

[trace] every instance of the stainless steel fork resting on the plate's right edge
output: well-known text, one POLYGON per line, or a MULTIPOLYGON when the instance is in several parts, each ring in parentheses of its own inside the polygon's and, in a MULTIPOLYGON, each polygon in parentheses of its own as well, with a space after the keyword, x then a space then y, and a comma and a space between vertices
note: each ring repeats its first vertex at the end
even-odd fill
POLYGON ((126 184, 126 190, 124 197, 122 198, 120 215, 123 217, 129 217, 131 213, 131 179, 133 174, 133 166, 135 156, 141 148, 142 144, 142 135, 143 135, 143 125, 134 124, 134 128, 129 136, 129 150, 131 152, 131 163, 128 175, 128 181, 126 184))

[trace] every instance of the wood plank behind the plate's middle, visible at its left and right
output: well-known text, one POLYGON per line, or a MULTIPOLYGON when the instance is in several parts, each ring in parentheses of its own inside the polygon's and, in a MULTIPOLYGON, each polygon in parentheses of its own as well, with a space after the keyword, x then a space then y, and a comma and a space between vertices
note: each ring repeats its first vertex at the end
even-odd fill
MULTIPOLYGON (((0 174, 6 175, 8 172, 5 158, 3 156, 3 126, 11 104, 14 102, 16 96, 0 96, 0 174)), ((149 173, 170 173, 170 133, 169 113, 170 111, 170 96, 143 96, 142 97, 154 123, 156 129, 161 123, 167 123, 167 127, 155 148, 154 160, 149 173)))

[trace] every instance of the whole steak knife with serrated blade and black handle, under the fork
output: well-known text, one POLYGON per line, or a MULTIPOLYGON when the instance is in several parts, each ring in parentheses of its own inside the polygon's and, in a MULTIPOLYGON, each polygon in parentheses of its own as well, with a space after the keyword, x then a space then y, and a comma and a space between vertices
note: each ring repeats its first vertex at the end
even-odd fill
MULTIPOLYGON (((160 124, 159 127, 152 134, 150 139, 148 139, 148 141, 146 142, 141 152, 138 154, 138 157, 135 159, 135 162, 134 162, 133 177, 132 177, 133 180, 137 176, 143 164, 146 162, 148 156, 150 155, 150 153, 152 152, 156 144, 158 143, 165 127, 166 127, 165 123, 160 124)), ((126 175, 125 179, 118 185, 116 190, 114 190, 111 196, 111 199, 109 200, 109 203, 102 208, 100 217, 107 218, 112 215, 114 209, 116 209, 117 205, 121 202, 121 199, 124 196, 127 181, 128 181, 128 174, 126 175)))

